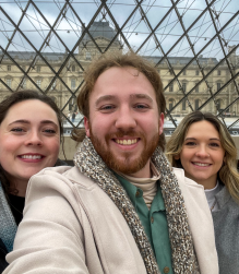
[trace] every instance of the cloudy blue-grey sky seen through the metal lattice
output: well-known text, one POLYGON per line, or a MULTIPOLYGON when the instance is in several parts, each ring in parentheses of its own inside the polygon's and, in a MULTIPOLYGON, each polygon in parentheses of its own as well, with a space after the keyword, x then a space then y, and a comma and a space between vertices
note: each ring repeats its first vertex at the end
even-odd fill
MULTIPOLYGON (((45 0, 34 2, 51 25, 55 24, 60 13, 60 10, 64 4, 63 0, 45 0)), ((77 16, 87 26, 87 24, 98 10, 100 1, 72 0, 71 3, 73 9, 76 11, 77 16)), ((22 16, 22 10, 25 9, 27 1, 0 0, 0 4, 4 12, 7 12, 9 16, 13 20, 13 22, 15 24, 19 24, 19 21, 22 16)), ((107 7, 116 19, 119 27, 121 27, 127 21, 128 16, 135 9, 135 1, 110 0, 107 2, 107 7)), ((238 0, 215 1, 215 4, 213 5, 212 10, 214 11, 214 17, 216 15, 218 16, 218 20, 216 20, 216 27, 218 29, 220 29, 236 12, 238 12, 238 0)), ((146 17, 153 29, 163 20, 163 17, 169 11, 170 8, 170 0, 144 0, 142 3, 142 10, 146 14, 146 17)), ((204 0, 184 0, 179 1, 177 8, 179 14, 182 16, 183 26, 187 29, 206 8, 206 3, 204 0)), ((96 17, 96 21, 101 20, 104 14, 106 14, 106 20, 109 21, 110 26, 116 28, 112 20, 107 14, 105 9, 99 12, 98 16, 96 17)), ((145 23, 145 20, 142 20, 142 15, 143 14, 141 13, 140 9, 138 9, 138 11, 134 13, 133 16, 131 16, 128 24, 122 29, 124 37, 128 39, 130 46, 134 50, 138 50, 139 47, 141 47, 145 38, 147 38, 151 33, 147 24, 145 23)), ((61 17, 55 29, 57 31, 63 43, 71 50, 81 37, 81 27, 82 26, 79 19, 68 7, 65 17, 61 17)), ((29 4, 27 9, 26 15, 20 24, 20 28, 37 49, 40 48, 45 37, 50 31, 50 27, 48 26, 47 22, 41 17, 41 15, 32 4, 29 4)), ((12 36, 14 29, 15 27, 10 22, 10 20, 8 20, 0 11, 0 45, 2 48, 7 47, 9 41, 8 38, 12 36)), ((156 48, 157 43, 159 43, 165 53, 168 52, 172 45, 177 44, 177 41, 183 34, 183 29, 175 10, 172 10, 163 21, 159 27, 157 27, 155 34, 156 40, 155 37, 152 36, 148 41, 141 48, 140 53, 146 56, 162 56, 159 47, 156 48)), ((211 20, 210 13, 207 12, 195 23, 195 25, 189 32, 189 38, 194 45, 195 53, 198 53, 215 34, 215 27, 211 20)), ((230 46, 238 45, 239 15, 237 15, 236 19, 225 28, 225 31, 222 33, 222 37, 230 46)), ((121 40, 123 41, 122 38, 121 40)), ((51 36, 49 45, 50 47, 44 48, 44 51, 64 52, 64 47, 55 35, 51 36)), ((127 48, 126 45, 124 48, 127 48)), ((22 35, 16 33, 13 38, 13 44, 10 46, 9 50, 25 51, 33 50, 33 48, 22 37, 22 35)), ((225 50, 227 53, 226 47, 225 50)), ((180 40, 180 43, 177 44, 177 46, 170 51, 169 55, 192 57, 193 52, 190 49, 188 39, 184 37, 180 40)), ((218 39, 215 39, 213 43, 211 43, 206 47, 206 49, 202 51, 202 55, 204 57, 216 57, 217 59, 223 58, 224 55, 218 39)))

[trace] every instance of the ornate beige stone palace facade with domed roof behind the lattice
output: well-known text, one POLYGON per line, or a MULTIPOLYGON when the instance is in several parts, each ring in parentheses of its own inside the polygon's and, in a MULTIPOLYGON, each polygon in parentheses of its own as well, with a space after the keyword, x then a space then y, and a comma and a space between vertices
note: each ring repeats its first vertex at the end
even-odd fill
MULTIPOLYGON (((123 50, 123 44, 108 22, 94 22, 88 33, 83 33, 77 50, 70 53, 0 51, 0 100, 11 92, 35 90, 53 98, 65 116, 76 111, 75 96, 92 59, 105 50, 123 50)), ((203 56, 193 61, 191 57, 144 58, 154 62, 162 76, 167 109, 172 116, 184 116, 200 107, 203 111, 225 110, 225 116, 239 116, 239 100, 227 108, 238 98, 235 83, 239 81, 230 81, 231 73, 239 71, 236 53, 229 57, 232 71, 225 61, 203 56)))

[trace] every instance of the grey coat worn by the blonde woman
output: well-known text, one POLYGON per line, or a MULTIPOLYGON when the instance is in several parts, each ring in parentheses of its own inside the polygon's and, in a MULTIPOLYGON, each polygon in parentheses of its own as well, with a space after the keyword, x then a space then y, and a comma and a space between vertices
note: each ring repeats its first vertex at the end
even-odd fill
POLYGON ((212 212, 219 274, 239 274, 239 204, 224 187, 216 194, 219 210, 212 212))

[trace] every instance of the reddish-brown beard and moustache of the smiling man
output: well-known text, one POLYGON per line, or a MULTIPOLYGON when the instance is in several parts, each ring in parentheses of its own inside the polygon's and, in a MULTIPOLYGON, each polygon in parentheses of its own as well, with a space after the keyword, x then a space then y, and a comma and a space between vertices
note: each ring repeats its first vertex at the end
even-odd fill
POLYGON ((100 141, 97 135, 94 135, 92 132, 92 128, 89 126, 91 140, 92 143, 98 153, 98 155, 103 158, 105 164, 116 171, 120 171, 126 175, 132 175, 140 171, 148 162, 154 151, 158 145, 159 133, 156 133, 151 140, 147 140, 143 133, 138 133, 134 131, 118 131, 113 134, 113 138, 122 138, 124 135, 132 136, 132 139, 136 135, 141 139, 141 142, 144 144, 144 148, 142 150, 141 155, 135 159, 133 158, 132 152, 121 152, 120 158, 115 155, 115 152, 111 152, 109 148, 109 142, 111 142, 112 134, 106 134, 104 141, 100 141), (122 159, 122 155, 124 159, 122 159))

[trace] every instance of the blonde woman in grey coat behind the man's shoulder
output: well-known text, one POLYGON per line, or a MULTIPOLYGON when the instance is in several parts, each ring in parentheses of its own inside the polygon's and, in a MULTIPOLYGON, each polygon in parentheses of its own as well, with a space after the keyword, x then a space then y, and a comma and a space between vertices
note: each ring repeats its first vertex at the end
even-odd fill
POLYGON ((227 128, 212 114, 186 116, 167 143, 174 167, 202 184, 212 212, 219 273, 239 271, 239 174, 237 148, 227 128))

